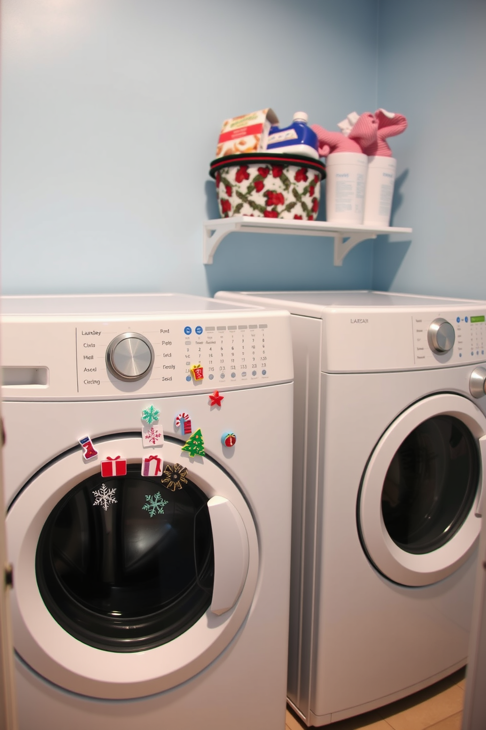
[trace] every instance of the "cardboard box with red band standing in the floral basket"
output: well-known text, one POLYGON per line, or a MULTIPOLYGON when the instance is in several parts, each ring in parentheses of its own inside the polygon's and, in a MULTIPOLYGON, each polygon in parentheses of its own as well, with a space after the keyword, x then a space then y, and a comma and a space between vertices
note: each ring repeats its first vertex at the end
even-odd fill
POLYGON ((271 109, 225 119, 219 134, 216 158, 266 150, 268 132, 273 124, 278 124, 278 119, 271 109))

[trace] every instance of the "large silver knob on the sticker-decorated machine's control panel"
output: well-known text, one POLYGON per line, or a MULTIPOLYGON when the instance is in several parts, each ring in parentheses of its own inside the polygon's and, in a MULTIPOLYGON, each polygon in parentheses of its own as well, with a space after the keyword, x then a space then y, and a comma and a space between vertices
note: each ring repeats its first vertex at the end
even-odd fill
POLYGON ((137 332, 125 332, 111 340, 106 348, 106 366, 118 380, 141 380, 154 363, 149 340, 137 332))

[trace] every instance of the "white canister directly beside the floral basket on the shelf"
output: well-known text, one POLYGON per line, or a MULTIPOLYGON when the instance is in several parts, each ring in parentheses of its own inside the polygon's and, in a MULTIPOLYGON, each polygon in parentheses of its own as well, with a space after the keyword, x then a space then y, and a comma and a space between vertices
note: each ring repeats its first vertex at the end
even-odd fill
POLYGON ((326 219, 329 223, 363 223, 367 155, 334 152, 326 157, 326 219))

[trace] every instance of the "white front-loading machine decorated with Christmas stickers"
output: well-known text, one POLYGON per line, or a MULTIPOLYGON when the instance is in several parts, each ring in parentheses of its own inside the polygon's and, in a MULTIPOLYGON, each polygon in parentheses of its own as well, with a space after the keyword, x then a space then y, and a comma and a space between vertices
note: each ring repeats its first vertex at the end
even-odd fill
POLYGON ((281 730, 289 315, 4 297, 20 730, 281 730))

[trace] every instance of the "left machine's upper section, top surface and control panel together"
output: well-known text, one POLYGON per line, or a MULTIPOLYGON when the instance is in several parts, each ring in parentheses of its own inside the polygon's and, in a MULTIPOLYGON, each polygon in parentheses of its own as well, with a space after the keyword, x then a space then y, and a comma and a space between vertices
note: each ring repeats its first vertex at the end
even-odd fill
POLYGON ((7 400, 119 399, 288 383, 286 311, 185 294, 1 299, 7 400))

